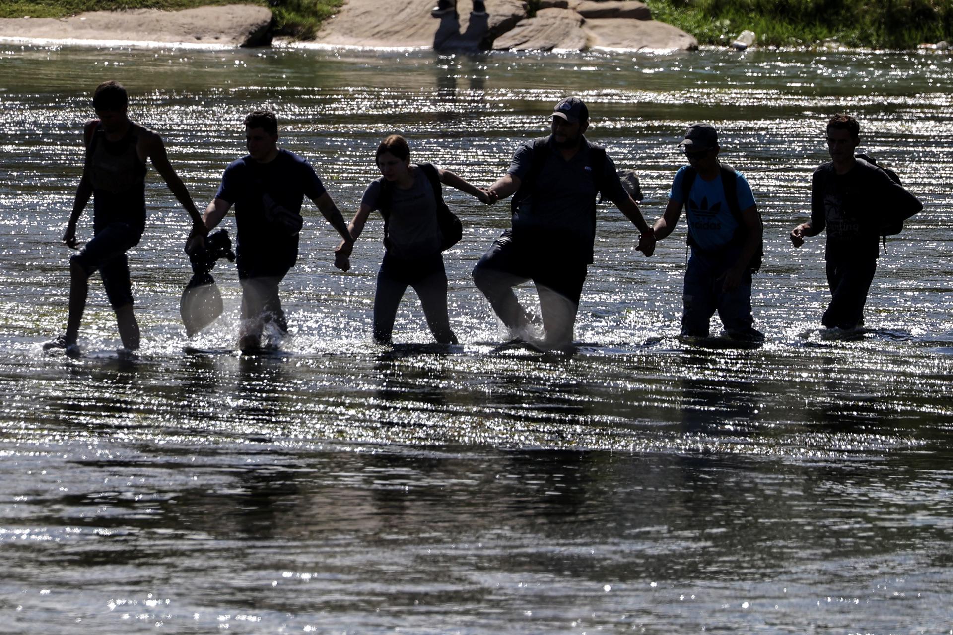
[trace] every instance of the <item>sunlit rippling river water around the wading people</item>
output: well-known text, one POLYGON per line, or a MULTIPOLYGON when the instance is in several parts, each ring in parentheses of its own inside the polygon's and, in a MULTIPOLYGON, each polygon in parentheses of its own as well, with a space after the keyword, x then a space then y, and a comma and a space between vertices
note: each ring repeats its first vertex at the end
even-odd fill
MULTIPOLYGON (((0 45, 0 632, 953 632, 951 61, 0 45), (308 207, 282 352, 184 354, 187 219, 152 171, 141 355, 116 356, 97 278, 84 357, 44 354, 66 321, 80 130, 109 78, 202 208, 254 108, 278 111, 348 218, 384 135, 488 185, 576 93, 654 219, 680 134, 712 121, 764 216, 767 341, 680 343, 684 228, 645 259, 603 208, 578 353, 495 353, 469 271, 508 206, 454 191, 460 347, 427 346, 413 292, 399 344, 375 347, 379 219, 345 274, 308 207), (823 237, 787 242, 841 109, 925 205, 853 341, 818 330, 823 237)), ((214 274, 226 312, 196 345, 231 348, 236 275, 214 274)))

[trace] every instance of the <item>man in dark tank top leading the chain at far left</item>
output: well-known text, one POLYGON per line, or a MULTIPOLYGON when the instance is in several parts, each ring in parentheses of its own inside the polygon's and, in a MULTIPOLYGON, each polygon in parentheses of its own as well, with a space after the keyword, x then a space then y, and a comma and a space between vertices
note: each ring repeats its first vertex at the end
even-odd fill
POLYGON ((189 246, 208 233, 182 180, 172 169, 162 137, 127 116, 129 95, 116 82, 100 84, 92 96, 97 119, 86 124, 86 163, 73 201, 63 243, 77 248, 76 223, 92 197, 92 239, 70 258, 70 312, 66 333, 44 344, 79 354, 76 340, 86 308, 89 278, 96 270, 116 314, 126 351, 139 347, 139 325, 132 313, 132 285, 126 251, 138 244, 146 227, 146 160, 162 175, 175 198, 192 217, 189 246))

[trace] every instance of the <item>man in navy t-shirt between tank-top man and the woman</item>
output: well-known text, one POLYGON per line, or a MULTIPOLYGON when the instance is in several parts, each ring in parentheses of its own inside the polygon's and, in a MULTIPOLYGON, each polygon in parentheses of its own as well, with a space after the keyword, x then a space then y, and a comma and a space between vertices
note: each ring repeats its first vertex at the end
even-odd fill
POLYGON ((205 210, 206 228, 213 228, 235 206, 237 246, 235 262, 242 287, 242 330, 239 347, 253 352, 261 346, 265 322, 285 333, 288 324, 278 297, 278 285, 294 267, 301 229, 301 205, 307 196, 344 238, 335 249, 351 255, 354 239, 341 212, 314 168, 286 149, 279 149, 274 112, 255 110, 245 118, 248 156, 225 169, 222 184, 205 210))

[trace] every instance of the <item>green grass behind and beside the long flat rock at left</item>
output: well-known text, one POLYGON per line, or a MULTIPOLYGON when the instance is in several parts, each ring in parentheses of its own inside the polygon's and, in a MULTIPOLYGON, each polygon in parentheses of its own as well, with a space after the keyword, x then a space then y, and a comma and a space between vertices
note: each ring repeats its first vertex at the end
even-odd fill
MULTIPOLYGON (((387 2, 387 0, 381 0, 387 2)), ((279 35, 314 37, 321 23, 335 14, 344 0, 2 0, 0 18, 61 18, 85 11, 129 9, 184 10, 222 5, 258 5, 274 12, 279 35)))

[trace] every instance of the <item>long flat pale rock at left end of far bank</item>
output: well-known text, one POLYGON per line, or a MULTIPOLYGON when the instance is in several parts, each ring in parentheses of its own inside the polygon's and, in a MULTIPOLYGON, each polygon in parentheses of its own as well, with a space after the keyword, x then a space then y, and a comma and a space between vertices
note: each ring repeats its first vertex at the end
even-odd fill
POLYGON ((253 5, 183 11, 92 11, 63 20, 0 19, 0 38, 57 42, 162 42, 254 47, 270 44, 272 30, 272 11, 253 5))

